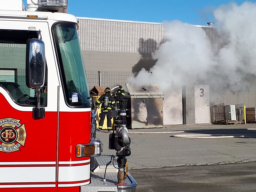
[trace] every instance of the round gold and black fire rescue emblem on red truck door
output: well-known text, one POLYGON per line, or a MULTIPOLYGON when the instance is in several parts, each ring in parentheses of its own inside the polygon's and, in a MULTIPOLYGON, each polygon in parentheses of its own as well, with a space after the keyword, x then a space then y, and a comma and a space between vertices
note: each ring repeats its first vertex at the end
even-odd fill
POLYGON ((24 147, 27 136, 25 124, 19 122, 13 118, 0 119, 0 151, 9 153, 24 147))

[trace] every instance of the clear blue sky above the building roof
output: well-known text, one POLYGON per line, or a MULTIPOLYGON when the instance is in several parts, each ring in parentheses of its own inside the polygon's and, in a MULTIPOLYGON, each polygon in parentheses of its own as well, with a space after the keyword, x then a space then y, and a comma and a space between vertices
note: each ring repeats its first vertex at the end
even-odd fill
MULTIPOLYGON (((256 2, 256 0, 251 0, 256 2)), ((26 2, 26 0, 23 0, 26 2)), ((244 0, 68 0, 67 12, 77 17, 162 22, 180 20, 193 25, 214 22, 221 4, 244 0)))

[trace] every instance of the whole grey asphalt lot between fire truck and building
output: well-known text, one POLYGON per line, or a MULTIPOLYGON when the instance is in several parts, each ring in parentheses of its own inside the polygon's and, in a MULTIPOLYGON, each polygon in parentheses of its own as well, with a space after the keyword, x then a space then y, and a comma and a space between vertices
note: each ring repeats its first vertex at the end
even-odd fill
MULTIPOLYGON (((256 124, 170 125, 128 132, 127 160, 137 192, 256 191, 256 124), (177 134, 245 137, 173 137, 177 134)), ((109 134, 96 134, 104 144, 102 154, 115 155, 108 149, 109 134)))

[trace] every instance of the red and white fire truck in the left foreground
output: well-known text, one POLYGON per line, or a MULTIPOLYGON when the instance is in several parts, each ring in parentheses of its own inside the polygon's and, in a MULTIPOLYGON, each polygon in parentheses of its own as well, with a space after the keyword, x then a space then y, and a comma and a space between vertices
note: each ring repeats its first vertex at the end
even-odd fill
POLYGON ((128 172, 104 173, 67 0, 27 4, 0 0, 0 192, 135 191, 128 172))

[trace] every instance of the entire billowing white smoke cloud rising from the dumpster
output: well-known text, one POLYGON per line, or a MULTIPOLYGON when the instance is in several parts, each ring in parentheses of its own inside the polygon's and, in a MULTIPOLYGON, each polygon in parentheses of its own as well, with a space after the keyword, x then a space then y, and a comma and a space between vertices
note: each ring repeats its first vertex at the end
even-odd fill
POLYGON ((152 55, 156 64, 142 69, 129 83, 158 83, 164 93, 183 85, 207 84, 216 90, 237 91, 255 82, 256 3, 222 5, 214 11, 219 41, 228 45, 218 54, 206 33, 180 21, 164 22, 164 43, 152 55))

